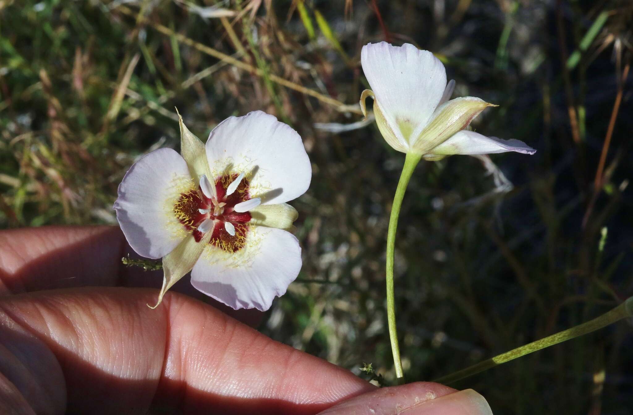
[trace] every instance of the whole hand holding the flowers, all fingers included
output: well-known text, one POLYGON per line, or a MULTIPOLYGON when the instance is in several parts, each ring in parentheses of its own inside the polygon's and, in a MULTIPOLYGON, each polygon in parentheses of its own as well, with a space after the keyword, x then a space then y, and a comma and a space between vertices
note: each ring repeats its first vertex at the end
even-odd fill
POLYGON ((188 278, 149 309, 161 275, 122 266, 128 252, 112 226, 0 232, 0 413, 491 413, 472 390, 376 388, 188 278))

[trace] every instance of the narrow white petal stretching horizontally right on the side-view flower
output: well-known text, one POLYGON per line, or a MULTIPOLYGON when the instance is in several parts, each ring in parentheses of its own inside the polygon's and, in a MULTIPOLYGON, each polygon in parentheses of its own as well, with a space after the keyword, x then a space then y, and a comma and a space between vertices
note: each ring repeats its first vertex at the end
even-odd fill
POLYGON ((486 137, 474 131, 462 130, 435 147, 429 154, 492 154, 496 152, 516 151, 523 154, 534 154, 535 149, 521 140, 502 140, 497 137, 486 137))

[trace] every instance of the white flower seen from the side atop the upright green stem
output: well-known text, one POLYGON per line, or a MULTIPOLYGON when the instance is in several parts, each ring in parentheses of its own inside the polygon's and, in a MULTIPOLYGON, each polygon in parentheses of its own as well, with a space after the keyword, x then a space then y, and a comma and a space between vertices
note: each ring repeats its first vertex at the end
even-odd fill
POLYGON ((373 97, 373 113, 384 139, 394 149, 439 160, 453 154, 489 154, 536 150, 520 140, 501 140, 465 130, 489 106, 476 97, 449 101, 455 82, 446 84, 446 70, 429 51, 411 44, 367 44, 361 65, 372 90, 364 90, 360 104, 373 97))

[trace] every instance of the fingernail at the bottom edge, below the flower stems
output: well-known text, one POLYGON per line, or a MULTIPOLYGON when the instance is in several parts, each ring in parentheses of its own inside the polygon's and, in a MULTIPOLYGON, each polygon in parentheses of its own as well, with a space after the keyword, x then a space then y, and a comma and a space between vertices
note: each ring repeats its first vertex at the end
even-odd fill
POLYGON ((401 412, 406 415, 492 415, 486 399, 472 389, 427 400, 401 412))

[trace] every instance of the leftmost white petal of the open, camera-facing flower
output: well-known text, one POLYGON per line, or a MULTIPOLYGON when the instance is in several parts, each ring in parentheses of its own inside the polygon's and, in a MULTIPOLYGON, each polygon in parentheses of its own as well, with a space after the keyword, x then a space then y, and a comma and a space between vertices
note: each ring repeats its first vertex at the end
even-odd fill
POLYGON ((132 249, 148 258, 171 252, 184 235, 171 211, 180 192, 177 183, 191 181, 187 163, 172 149, 158 149, 142 157, 125 173, 118 187, 116 219, 132 249))

